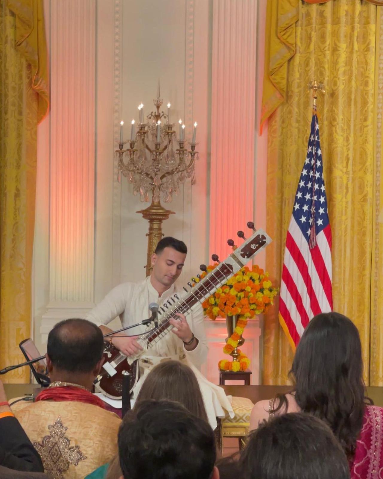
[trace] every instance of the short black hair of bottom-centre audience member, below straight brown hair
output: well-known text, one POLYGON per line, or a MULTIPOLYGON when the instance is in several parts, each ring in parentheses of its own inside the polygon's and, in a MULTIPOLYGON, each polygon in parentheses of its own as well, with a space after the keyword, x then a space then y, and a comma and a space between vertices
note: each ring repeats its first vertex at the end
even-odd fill
POLYGON ((125 479, 209 479, 216 459, 206 421, 177 402, 154 399, 125 415, 118 452, 125 479))

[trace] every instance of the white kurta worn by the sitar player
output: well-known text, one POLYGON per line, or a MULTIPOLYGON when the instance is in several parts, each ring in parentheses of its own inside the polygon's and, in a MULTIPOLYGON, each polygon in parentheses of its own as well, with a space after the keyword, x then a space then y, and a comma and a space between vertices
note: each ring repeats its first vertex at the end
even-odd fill
MULTIPOLYGON (((105 298, 95 308, 93 308, 86 319, 94 322, 98 326, 106 325, 117 316, 120 317, 123 326, 139 323, 143 319, 150 317, 149 304, 152 302, 158 303, 159 306, 164 304, 174 293, 182 297, 184 290, 179 289, 176 285, 171 285, 161 297, 158 297, 157 290, 153 287, 150 277, 147 277, 140 283, 124 283, 118 285, 108 293, 105 298)), ((161 319, 161 316, 159 317, 161 319)), ((153 345, 147 352, 145 352, 141 359, 151 358, 154 364, 157 364, 160 359, 165 357, 173 357, 179 355, 187 365, 191 367, 203 395, 206 413, 209 422, 213 429, 217 426, 216 417, 225 417, 225 411, 228 411, 231 417, 234 417, 229 399, 226 397, 223 388, 209 382, 197 369, 207 358, 208 346, 206 335, 203 327, 203 309, 197 303, 191 308, 189 314, 186 315, 186 320, 189 324, 194 336, 198 338, 198 345, 192 351, 187 351, 183 342, 171 331, 153 345)), ((148 326, 139 326, 135 329, 128 330, 127 334, 139 334, 153 328, 153 324, 148 326)), ((144 367, 140 364, 141 377, 134 389, 134 396, 136 397, 141 385, 149 373, 147 365, 144 367)))

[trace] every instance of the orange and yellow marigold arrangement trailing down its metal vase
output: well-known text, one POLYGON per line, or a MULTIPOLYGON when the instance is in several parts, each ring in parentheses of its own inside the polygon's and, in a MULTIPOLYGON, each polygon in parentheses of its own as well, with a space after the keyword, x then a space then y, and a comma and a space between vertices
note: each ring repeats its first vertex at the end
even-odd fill
MULTIPOLYGON (((209 265, 200 279, 203 279, 216 266, 218 264, 209 265)), ((195 278, 193 280, 199 281, 195 278)), ((225 354, 230 354, 237 348, 248 318, 264 313, 273 304, 277 293, 278 289, 272 287, 269 274, 264 273, 259 266, 253 265, 251 270, 247 266, 243 267, 218 288, 214 295, 203 302, 203 312, 211 319, 239 315, 237 326, 224 347, 225 354)), ((239 354, 237 361, 222 359, 218 363, 219 368, 226 371, 246 370, 250 360, 239 349, 237 353, 239 354)))

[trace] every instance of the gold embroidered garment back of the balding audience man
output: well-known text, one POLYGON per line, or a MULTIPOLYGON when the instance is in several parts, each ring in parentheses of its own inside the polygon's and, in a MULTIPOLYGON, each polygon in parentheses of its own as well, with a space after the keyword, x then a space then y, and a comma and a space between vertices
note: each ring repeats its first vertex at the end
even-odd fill
POLYGON ((53 479, 82 479, 118 452, 121 419, 76 401, 38 401, 14 410, 53 479))

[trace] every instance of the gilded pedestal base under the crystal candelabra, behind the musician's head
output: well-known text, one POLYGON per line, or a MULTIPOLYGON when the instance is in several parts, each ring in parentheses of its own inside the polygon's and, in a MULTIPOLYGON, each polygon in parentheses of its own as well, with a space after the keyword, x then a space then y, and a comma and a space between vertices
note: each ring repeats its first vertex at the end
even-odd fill
POLYGON ((163 237, 162 221, 168 219, 169 215, 174 215, 174 211, 165 209, 159 201, 152 199, 150 206, 136 213, 141 213, 149 221, 149 231, 146 233, 148 239, 145 268, 146 276, 150 276, 152 272, 152 254, 157 247, 158 241, 163 237))

